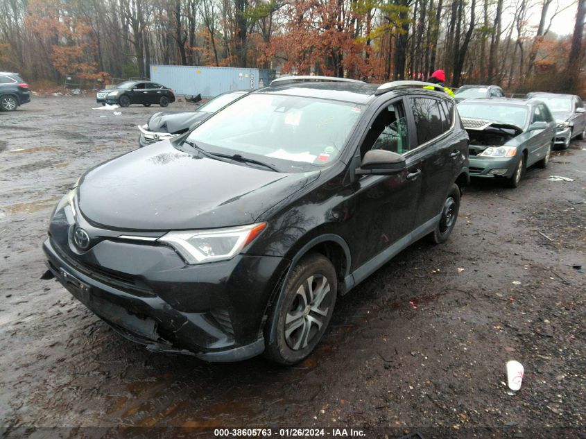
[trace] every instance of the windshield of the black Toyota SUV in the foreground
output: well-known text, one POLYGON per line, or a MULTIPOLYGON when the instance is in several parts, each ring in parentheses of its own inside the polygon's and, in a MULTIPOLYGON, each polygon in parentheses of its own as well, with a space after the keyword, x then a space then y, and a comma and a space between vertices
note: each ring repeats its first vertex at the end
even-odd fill
POLYGON ((263 156, 279 168, 294 168, 290 162, 324 166, 341 153, 362 110, 354 103, 249 94, 207 119, 188 139, 210 153, 263 156))

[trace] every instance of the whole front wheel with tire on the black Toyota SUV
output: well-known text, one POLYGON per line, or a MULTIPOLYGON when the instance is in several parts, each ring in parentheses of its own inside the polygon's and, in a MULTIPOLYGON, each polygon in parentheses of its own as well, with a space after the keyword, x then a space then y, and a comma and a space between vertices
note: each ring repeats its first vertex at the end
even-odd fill
POLYGON ((318 253, 293 268, 265 328, 265 356, 282 365, 304 360, 320 342, 338 294, 336 270, 318 253), (276 325, 276 326, 275 326, 276 325), (270 330, 275 327, 272 343, 270 330))

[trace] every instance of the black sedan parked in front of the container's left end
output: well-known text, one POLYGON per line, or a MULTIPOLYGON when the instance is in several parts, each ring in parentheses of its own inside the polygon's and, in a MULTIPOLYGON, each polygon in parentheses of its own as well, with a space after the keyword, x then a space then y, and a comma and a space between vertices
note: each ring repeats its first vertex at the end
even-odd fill
POLYGON ((130 80, 120 83, 112 89, 103 89, 96 94, 96 102, 101 104, 118 104, 121 107, 141 103, 145 107, 159 104, 166 107, 175 102, 173 90, 157 83, 130 80))

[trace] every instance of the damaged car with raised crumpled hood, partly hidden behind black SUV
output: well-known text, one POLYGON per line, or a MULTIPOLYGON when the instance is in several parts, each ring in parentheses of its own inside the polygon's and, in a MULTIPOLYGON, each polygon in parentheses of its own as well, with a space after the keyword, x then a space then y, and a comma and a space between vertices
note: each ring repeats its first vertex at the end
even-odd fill
POLYGON ((189 130, 194 123, 205 121, 208 117, 212 116, 216 111, 225 107, 232 101, 246 93, 242 90, 236 90, 234 92, 225 92, 219 94, 211 101, 198 107, 195 111, 187 112, 158 112, 148 119, 148 122, 143 126, 139 126, 140 137, 139 147, 154 144, 157 141, 165 139, 171 139, 178 135, 182 135, 184 132, 189 130))

